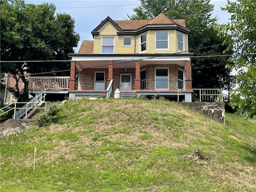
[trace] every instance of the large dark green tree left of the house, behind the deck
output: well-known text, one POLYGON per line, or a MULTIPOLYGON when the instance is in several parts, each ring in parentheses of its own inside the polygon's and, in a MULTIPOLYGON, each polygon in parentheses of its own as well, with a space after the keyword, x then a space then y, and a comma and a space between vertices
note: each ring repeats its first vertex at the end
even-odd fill
MULTIPOLYGON (((74 53, 79 34, 74 32, 74 19, 68 14, 57 13, 54 4, 26 4, 24 0, 2 0, 0 4, 1 60, 67 60, 74 53)), ((43 73, 65 70, 70 63, 15 62, 2 63, 1 73, 9 72, 16 80, 14 95, 21 96, 16 74, 24 82, 23 95, 28 98, 28 80, 24 72, 43 73)), ((56 75, 52 74, 52 75, 56 75)))

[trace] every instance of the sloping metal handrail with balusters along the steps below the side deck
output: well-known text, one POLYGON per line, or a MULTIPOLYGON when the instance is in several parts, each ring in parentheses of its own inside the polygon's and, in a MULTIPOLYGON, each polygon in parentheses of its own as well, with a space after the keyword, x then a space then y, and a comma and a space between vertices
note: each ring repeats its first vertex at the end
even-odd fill
MULTIPOLYGON (((16 103, 15 103, 15 107, 14 107, 14 115, 12 116, 13 119, 20 119, 22 116, 24 116, 24 114, 26 114, 27 116, 27 112, 30 109, 34 109, 36 108, 36 106, 40 103, 40 102, 44 102, 45 101, 45 94, 46 89, 43 89, 39 94, 37 94, 34 98, 32 98, 32 100, 30 100, 29 102, 26 103, 26 105, 24 105, 22 108, 16 108, 16 103), (16 112, 16 109, 20 109, 16 112)), ((21 102, 23 103, 23 102, 21 102)), ((25 118, 26 118, 25 116, 25 118)))

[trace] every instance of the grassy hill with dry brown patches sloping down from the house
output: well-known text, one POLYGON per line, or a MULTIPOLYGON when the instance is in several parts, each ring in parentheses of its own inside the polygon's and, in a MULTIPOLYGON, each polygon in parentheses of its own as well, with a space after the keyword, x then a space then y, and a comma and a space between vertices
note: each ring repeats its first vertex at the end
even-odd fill
POLYGON ((160 100, 60 108, 54 124, 0 140, 0 191, 256 191, 255 119, 223 125, 160 100))

